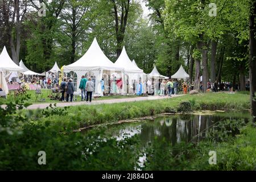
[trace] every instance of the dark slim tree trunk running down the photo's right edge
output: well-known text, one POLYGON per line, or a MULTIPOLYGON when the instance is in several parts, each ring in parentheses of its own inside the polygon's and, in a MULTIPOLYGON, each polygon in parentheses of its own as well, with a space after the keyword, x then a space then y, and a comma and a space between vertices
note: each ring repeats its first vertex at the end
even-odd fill
POLYGON ((251 116, 254 126, 256 125, 256 0, 251 0, 250 14, 250 96, 251 96, 251 116))

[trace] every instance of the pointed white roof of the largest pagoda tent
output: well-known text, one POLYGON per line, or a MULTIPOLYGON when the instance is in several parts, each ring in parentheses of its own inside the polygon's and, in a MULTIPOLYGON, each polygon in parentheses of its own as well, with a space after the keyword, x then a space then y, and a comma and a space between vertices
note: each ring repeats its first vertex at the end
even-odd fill
POLYGON ((104 52, 101 50, 98 45, 97 39, 94 38, 92 45, 90 45, 88 51, 75 63, 67 65, 64 67, 64 70, 117 70, 122 71, 123 68, 118 67, 112 61, 106 57, 104 52))

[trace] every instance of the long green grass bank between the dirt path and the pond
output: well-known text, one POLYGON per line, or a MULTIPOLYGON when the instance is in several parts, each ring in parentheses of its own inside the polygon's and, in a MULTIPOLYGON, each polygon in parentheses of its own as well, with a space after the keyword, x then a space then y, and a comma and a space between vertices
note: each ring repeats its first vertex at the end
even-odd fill
POLYGON ((133 119, 177 110, 182 101, 195 101, 193 110, 241 110, 250 109, 249 96, 246 94, 208 93, 186 95, 164 100, 148 100, 123 102, 117 104, 80 105, 68 108, 68 115, 51 116, 47 120, 53 125, 65 129, 112 123, 125 119, 133 119))

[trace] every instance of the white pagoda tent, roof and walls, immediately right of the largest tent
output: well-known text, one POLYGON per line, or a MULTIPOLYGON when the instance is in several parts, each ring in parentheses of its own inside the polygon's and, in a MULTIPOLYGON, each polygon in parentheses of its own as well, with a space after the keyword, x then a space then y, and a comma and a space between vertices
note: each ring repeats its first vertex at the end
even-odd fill
POLYGON ((137 85, 141 80, 142 83, 146 84, 146 77, 144 76, 143 70, 131 62, 125 47, 123 47, 121 55, 115 61, 115 65, 125 69, 125 89, 123 90, 123 94, 133 93, 134 82, 137 85))

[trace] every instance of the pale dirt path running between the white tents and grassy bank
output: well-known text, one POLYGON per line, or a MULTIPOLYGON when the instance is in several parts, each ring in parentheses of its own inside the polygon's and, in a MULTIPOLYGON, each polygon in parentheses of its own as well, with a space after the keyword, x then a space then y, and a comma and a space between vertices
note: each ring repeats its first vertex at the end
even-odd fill
MULTIPOLYGON (((174 97, 181 97, 181 95, 172 95, 174 97)), ((148 97, 134 97, 134 98, 119 98, 113 100, 93 100, 92 103, 87 103, 85 101, 80 102, 58 102, 56 104, 57 107, 65 107, 65 106, 78 106, 78 105, 99 105, 99 104, 114 104, 114 103, 121 103, 121 102, 135 102, 135 101, 147 101, 147 100, 161 100, 164 98, 168 98, 168 96, 160 97, 160 96, 148 96, 148 97)), ((45 109, 51 103, 43 103, 43 104, 33 104, 28 106, 27 109, 45 109)), ((1 107, 5 108, 5 105, 1 107)))

